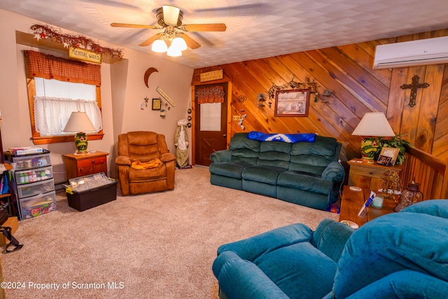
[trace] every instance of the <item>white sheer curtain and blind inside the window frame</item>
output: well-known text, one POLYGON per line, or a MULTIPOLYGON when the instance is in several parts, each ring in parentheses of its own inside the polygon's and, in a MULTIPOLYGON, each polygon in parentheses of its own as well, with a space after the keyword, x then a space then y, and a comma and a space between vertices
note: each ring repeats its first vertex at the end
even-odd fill
POLYGON ((63 132, 71 112, 87 113, 96 132, 102 130, 101 111, 96 102, 96 86, 54 79, 34 78, 34 123, 41 136, 67 134, 63 132))

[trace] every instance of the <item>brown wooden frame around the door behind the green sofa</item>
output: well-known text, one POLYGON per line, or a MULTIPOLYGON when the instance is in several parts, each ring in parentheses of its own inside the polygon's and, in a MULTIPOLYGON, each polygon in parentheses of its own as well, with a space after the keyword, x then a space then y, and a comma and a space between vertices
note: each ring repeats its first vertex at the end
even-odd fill
POLYGON ((200 83, 200 84, 195 84, 195 85, 191 85, 191 155, 192 155, 192 165, 196 165, 196 146, 195 146, 195 141, 196 141, 196 134, 195 134, 195 128, 196 128, 196 123, 195 123, 195 91, 196 91, 196 86, 198 85, 210 85, 210 84, 214 84, 214 83, 228 83, 228 92, 227 92, 227 119, 225 120, 227 125, 226 125, 226 132, 225 132, 225 138, 226 138, 226 146, 227 148, 229 147, 230 144, 230 131, 232 129, 231 125, 231 120, 232 120, 232 111, 230 110, 230 107, 232 106, 232 81, 228 80, 228 79, 223 79, 223 80, 217 80, 217 81, 213 81, 213 82, 204 82, 204 83, 200 83))

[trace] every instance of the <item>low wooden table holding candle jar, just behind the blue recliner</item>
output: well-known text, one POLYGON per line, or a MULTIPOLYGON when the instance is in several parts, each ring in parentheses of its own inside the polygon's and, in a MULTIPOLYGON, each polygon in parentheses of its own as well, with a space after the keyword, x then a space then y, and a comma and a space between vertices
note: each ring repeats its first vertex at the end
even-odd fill
POLYGON ((349 186, 344 186, 344 190, 342 190, 339 221, 349 220, 361 226, 374 218, 394 212, 393 208, 396 206, 394 200, 384 198, 382 209, 377 209, 370 205, 370 207, 367 208, 367 214, 365 216, 358 216, 359 210, 363 207, 363 204, 369 195, 370 189, 356 191, 351 190, 349 186))

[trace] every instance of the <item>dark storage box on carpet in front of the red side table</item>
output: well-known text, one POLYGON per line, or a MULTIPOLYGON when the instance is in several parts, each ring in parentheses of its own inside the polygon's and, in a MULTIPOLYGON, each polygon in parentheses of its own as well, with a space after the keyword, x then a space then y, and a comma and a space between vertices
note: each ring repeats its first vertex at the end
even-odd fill
POLYGON ((117 185, 118 181, 113 181, 107 185, 81 192, 66 188, 65 194, 67 195, 67 200, 69 200, 69 207, 78 211, 85 211, 86 209, 97 207, 100 204, 106 204, 107 202, 116 200, 117 185))

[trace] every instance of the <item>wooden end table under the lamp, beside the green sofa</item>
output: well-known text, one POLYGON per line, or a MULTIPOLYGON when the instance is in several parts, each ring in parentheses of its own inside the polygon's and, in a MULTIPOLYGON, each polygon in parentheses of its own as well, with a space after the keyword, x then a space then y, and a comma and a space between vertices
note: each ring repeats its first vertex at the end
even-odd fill
POLYGON ((384 166, 377 162, 367 163, 363 159, 351 159, 347 161, 350 165, 349 186, 370 189, 377 192, 381 177, 386 170, 393 170, 400 176, 403 165, 384 166))

